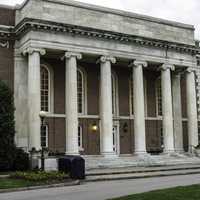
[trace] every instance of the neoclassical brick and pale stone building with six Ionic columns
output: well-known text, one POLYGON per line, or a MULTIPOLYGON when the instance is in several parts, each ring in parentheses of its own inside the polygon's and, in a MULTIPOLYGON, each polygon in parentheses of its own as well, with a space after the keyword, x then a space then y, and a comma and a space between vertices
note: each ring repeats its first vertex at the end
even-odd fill
POLYGON ((192 25, 71 0, 0 6, 0 79, 14 92, 17 145, 70 155, 192 152, 199 52, 192 25))

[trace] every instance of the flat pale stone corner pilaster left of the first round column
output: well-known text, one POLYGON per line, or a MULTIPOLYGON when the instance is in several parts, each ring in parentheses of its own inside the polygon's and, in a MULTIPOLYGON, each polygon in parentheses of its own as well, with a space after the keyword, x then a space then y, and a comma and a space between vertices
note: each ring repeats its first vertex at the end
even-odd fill
POLYGON ((16 145, 28 151, 28 59, 15 49, 14 100, 16 145))

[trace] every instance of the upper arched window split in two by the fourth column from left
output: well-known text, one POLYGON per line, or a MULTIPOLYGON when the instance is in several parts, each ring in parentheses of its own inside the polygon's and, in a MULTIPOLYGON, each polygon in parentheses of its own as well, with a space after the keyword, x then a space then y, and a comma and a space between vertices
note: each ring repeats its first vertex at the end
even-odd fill
MULTIPOLYGON (((147 116, 147 80, 145 76, 143 77, 143 87, 144 87, 144 112, 147 116)), ((129 81, 129 102, 130 102, 130 115, 134 115, 134 94, 133 94, 133 77, 131 76, 129 81)))

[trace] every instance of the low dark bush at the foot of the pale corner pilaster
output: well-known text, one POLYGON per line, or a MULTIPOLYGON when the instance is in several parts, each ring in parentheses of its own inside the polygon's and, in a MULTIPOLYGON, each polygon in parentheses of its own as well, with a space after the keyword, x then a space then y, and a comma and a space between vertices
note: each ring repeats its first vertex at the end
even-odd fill
POLYGON ((22 149, 17 148, 15 151, 15 159, 13 161, 14 171, 27 171, 29 170, 29 155, 22 149))

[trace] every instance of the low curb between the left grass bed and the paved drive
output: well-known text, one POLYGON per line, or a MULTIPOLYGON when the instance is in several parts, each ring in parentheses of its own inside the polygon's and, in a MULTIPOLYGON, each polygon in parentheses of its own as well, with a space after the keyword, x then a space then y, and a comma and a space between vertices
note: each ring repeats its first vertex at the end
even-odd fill
POLYGON ((71 181, 67 183, 50 184, 50 185, 39 185, 39 186, 12 188, 12 189, 0 189, 0 193, 21 192, 21 191, 28 191, 28 190, 39 190, 39 189, 66 187, 66 186, 75 186, 75 185, 80 185, 80 180, 75 180, 75 181, 71 181))

